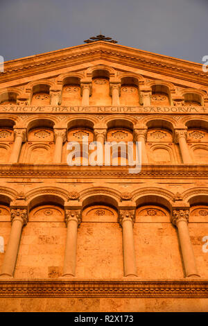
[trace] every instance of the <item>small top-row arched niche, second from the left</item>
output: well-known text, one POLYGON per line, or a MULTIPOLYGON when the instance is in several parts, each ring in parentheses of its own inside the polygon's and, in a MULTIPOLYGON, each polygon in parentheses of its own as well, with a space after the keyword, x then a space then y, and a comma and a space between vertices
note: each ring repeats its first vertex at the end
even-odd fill
POLYGON ((50 105, 50 86, 38 84, 33 86, 31 105, 50 105))

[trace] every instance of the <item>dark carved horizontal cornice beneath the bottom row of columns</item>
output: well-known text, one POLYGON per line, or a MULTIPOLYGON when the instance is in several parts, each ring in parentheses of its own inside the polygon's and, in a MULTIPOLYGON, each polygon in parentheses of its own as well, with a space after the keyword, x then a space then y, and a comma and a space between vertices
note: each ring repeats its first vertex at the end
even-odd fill
POLYGON ((2 280, 0 298, 208 298, 208 281, 2 280))

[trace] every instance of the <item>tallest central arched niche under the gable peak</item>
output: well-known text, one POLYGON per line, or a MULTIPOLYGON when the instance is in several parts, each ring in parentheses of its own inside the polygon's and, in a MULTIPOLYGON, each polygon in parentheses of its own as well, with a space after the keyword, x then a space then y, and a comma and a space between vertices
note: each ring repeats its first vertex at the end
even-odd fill
POLYGON ((112 105, 110 96, 110 73, 104 69, 92 72, 92 96, 89 105, 112 105))

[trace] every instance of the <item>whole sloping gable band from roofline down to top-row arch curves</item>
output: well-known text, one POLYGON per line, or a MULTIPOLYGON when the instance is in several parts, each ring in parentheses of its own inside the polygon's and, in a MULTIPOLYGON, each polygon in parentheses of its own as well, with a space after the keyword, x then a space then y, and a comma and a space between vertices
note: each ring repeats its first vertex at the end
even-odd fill
POLYGON ((129 72, 205 91, 208 87, 207 74, 198 63, 102 41, 5 62, 0 87, 24 87, 35 80, 53 80, 70 72, 85 74, 95 65, 112 67, 116 74, 129 72))

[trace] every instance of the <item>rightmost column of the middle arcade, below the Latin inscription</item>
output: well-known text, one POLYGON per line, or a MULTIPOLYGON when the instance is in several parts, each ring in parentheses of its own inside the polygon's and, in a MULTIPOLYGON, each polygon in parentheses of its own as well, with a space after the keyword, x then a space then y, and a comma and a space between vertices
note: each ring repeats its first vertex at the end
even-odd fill
POLYGON ((191 164, 191 155, 187 146, 187 130, 175 130, 175 143, 179 143, 183 163, 191 164))

